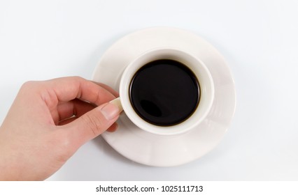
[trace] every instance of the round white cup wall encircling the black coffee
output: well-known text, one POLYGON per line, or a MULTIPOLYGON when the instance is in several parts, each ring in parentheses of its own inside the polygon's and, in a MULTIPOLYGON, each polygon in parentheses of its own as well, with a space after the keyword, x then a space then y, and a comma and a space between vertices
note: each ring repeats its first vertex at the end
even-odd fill
POLYGON ((213 79, 208 68, 206 68, 206 65, 204 65, 204 63, 196 57, 192 56, 192 54, 188 54, 181 49, 168 47, 151 49, 150 51, 136 57, 134 61, 129 63, 122 74, 119 91, 121 104, 127 117, 132 120, 135 125, 141 128, 141 130, 159 135, 181 134, 194 129, 194 127, 201 123, 201 121, 207 116, 213 104, 214 98, 213 79), (192 70, 199 81, 200 98, 197 109, 195 109, 189 118, 177 125, 159 126, 148 123, 136 114, 129 98, 129 87, 135 73, 143 65, 159 59, 169 59, 183 63, 192 70))

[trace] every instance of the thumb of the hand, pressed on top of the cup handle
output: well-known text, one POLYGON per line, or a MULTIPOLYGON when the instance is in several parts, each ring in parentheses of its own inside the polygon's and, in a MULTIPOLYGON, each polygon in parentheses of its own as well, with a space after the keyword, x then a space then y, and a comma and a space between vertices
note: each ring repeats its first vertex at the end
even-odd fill
POLYGON ((71 128, 69 131, 71 137, 80 144, 94 139, 115 123, 121 111, 120 98, 101 104, 68 124, 71 128))

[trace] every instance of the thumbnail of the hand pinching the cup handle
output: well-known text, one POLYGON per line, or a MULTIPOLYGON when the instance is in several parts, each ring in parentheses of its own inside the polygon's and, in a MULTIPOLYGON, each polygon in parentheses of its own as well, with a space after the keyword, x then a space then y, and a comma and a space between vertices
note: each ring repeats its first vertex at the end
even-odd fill
POLYGON ((108 120, 112 120, 116 116, 120 114, 122 111, 122 106, 120 102, 120 98, 116 98, 111 102, 108 102, 104 107, 101 108, 101 113, 106 117, 108 120))

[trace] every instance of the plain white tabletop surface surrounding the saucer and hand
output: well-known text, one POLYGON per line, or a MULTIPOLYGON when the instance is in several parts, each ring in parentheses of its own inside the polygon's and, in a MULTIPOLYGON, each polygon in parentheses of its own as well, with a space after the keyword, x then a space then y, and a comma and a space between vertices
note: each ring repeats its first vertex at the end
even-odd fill
POLYGON ((150 26, 211 42, 234 75, 237 105, 220 145, 171 168, 122 157, 98 137, 48 180, 298 180, 298 1, 0 1, 0 123, 24 81, 91 79, 101 55, 150 26))

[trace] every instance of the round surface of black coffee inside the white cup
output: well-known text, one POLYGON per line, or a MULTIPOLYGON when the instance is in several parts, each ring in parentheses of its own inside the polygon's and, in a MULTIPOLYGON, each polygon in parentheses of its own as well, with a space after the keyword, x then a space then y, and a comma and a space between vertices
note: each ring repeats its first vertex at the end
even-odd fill
POLYGON ((199 83, 183 63, 162 59, 143 65, 129 88, 136 113, 148 123, 176 125, 192 115, 199 103, 199 83))

